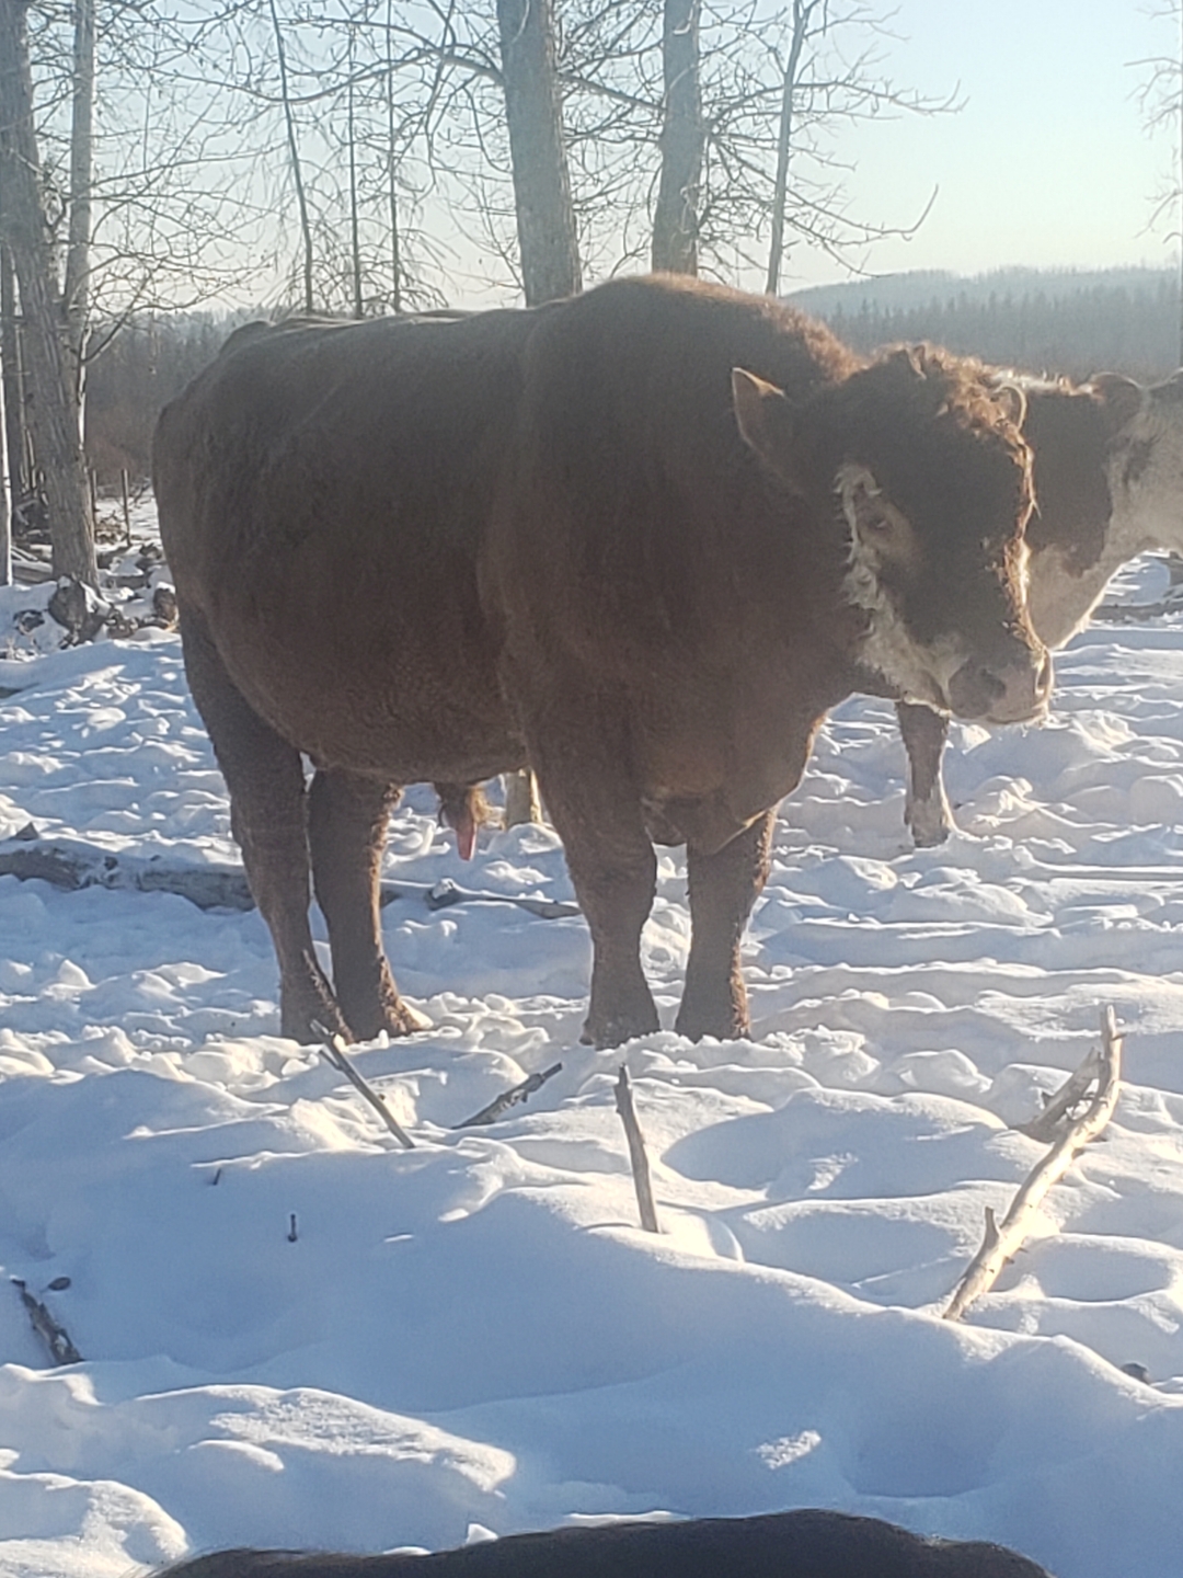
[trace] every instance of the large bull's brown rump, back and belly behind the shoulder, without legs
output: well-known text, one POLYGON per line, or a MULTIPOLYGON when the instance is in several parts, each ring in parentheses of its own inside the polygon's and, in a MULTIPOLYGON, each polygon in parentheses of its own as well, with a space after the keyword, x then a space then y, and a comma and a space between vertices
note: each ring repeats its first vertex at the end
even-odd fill
POLYGON ((183 619, 327 764, 390 778, 503 764, 475 567, 527 325, 248 331, 161 417, 155 484, 183 619))

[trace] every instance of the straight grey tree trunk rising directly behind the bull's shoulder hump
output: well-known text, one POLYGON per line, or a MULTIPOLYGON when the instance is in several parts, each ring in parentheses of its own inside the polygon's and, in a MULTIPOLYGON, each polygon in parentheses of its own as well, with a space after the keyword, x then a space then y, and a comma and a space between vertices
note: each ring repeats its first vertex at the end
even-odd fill
POLYGON ((661 178, 653 210, 655 268, 699 271, 699 183, 702 180, 702 92, 699 17, 702 0, 666 0, 661 30, 661 178))

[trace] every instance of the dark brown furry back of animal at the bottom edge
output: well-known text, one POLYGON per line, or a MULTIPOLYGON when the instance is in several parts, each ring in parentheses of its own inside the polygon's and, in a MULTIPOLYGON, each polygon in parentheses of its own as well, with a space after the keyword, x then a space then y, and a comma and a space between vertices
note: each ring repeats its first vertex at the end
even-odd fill
POLYGON ((1051 1578, 1002 1545, 804 1509, 513 1534, 431 1556, 221 1551, 161 1578, 1051 1578))

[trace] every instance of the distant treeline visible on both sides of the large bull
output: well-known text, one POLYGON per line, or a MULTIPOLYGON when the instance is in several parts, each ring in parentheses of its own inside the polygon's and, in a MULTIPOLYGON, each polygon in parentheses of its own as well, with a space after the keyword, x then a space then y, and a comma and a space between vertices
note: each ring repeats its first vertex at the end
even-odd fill
MULTIPOLYGON (((893 275, 804 290, 793 301, 856 350, 931 339, 1027 372, 1109 371, 1147 382, 1174 372, 1178 358, 1178 282, 1166 270, 893 275)), ((110 335, 87 380, 87 454, 99 483, 117 484, 121 470, 132 483, 147 478, 159 409, 249 316, 153 317, 110 335)))

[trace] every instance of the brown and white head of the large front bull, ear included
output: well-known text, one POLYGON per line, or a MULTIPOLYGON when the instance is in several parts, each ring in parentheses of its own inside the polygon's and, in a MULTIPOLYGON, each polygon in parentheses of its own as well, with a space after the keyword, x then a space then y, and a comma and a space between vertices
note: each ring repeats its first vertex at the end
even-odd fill
POLYGON ((749 372, 732 382, 745 440, 847 533, 845 595, 866 614, 858 660, 961 718, 1041 713, 1052 669, 1025 606, 1022 394, 931 347, 797 409, 749 372))

